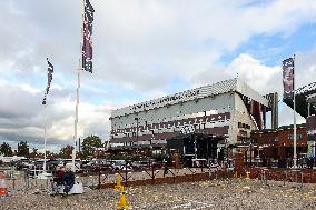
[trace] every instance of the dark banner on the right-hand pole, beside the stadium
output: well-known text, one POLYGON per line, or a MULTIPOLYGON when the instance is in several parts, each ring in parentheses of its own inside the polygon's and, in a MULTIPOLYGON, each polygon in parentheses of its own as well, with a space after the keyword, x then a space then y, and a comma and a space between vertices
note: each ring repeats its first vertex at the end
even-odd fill
POLYGON ((283 61, 283 98, 294 99, 294 58, 283 61))

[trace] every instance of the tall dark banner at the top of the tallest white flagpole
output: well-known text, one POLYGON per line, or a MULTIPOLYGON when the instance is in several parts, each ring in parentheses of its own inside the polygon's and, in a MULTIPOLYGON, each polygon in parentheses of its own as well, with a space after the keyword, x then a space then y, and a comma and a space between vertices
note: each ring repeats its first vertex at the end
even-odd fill
POLYGON ((85 0, 82 69, 92 73, 92 22, 95 9, 89 0, 85 0))

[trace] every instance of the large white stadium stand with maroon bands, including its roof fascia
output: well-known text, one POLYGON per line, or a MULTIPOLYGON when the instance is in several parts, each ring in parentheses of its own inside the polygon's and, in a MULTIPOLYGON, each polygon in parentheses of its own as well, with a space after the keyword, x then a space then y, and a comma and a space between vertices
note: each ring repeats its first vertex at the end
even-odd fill
POLYGON ((268 100, 239 79, 231 79, 145 101, 111 112, 111 147, 164 146, 181 129, 224 137, 236 144, 263 127, 268 100), (251 116, 250 101, 258 104, 251 116))

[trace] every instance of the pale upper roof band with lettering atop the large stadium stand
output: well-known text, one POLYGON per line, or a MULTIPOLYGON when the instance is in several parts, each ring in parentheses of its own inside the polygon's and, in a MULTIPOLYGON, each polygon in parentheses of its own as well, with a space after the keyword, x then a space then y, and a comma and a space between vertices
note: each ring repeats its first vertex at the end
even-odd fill
POLYGON ((246 96, 260 104, 268 107, 268 100, 251 89, 248 84, 234 78, 230 80, 220 81, 214 84, 195 88, 191 90, 169 94, 158 99, 140 102, 129 107, 120 108, 111 111, 111 118, 121 117, 130 113, 141 112, 144 110, 157 109, 170 104, 181 103, 186 101, 198 100, 201 98, 213 97, 227 92, 238 92, 246 96))

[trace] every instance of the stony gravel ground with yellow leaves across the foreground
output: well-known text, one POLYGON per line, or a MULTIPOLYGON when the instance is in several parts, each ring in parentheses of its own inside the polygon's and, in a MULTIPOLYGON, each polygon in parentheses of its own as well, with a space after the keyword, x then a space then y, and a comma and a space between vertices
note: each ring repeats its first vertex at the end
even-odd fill
MULTIPOLYGON (((302 189, 282 182, 263 186, 258 180, 203 181, 180 184, 161 184, 127 188, 129 209, 182 210, 182 209, 316 209, 315 184, 302 189)), ((11 209, 89 209, 115 210, 119 199, 113 189, 91 190, 83 194, 51 197, 45 191, 13 191, 0 200, 1 210, 11 209)))

